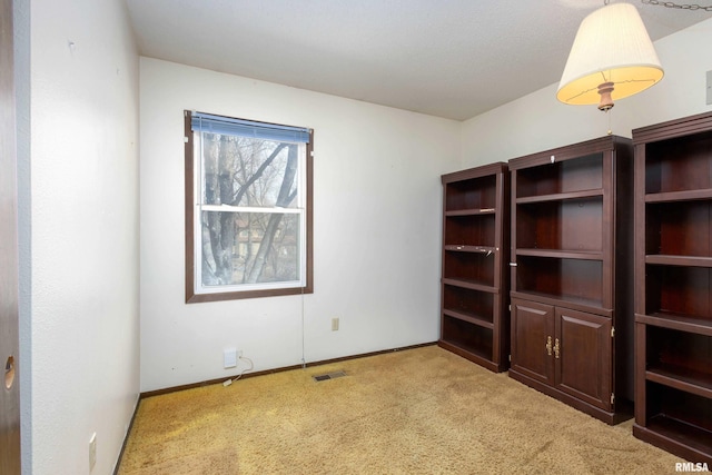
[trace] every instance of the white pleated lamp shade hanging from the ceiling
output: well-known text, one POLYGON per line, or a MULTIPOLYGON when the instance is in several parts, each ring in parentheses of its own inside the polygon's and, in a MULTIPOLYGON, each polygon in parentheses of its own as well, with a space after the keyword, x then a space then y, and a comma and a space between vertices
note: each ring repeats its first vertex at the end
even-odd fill
POLYGON ((568 53, 556 98, 571 105, 599 103, 599 86, 613 82, 613 100, 650 88, 663 78, 637 9, 613 3, 589 14, 568 53))

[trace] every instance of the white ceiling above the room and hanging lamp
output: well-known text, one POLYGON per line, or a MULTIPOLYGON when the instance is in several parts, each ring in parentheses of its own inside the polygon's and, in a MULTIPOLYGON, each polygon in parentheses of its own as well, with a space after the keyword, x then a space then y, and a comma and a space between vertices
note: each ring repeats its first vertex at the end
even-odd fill
MULTIPOLYGON (((455 120, 558 82, 581 20, 604 3, 126 1, 142 56, 455 120)), ((630 2, 653 40, 712 18, 630 2)))

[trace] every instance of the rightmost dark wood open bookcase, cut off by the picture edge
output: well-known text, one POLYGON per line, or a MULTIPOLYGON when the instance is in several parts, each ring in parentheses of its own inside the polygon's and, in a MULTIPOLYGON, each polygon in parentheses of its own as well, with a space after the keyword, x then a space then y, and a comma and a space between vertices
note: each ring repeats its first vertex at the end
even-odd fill
POLYGON ((712 113, 633 130, 633 434, 712 464, 712 113))

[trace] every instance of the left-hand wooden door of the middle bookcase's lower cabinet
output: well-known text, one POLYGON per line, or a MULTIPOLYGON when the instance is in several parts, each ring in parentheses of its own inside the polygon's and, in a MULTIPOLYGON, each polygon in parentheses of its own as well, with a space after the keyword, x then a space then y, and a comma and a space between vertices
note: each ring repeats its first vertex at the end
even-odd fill
POLYGON ((512 369, 554 385, 554 307, 512 299, 512 369))

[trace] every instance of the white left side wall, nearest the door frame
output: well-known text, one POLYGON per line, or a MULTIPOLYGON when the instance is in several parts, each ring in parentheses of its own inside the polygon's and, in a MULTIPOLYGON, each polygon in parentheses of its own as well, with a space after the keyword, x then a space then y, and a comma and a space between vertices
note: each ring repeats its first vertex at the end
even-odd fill
POLYGON ((88 474, 96 432, 108 474, 139 392, 138 55, 121 0, 33 0, 30 18, 23 471, 88 474))

